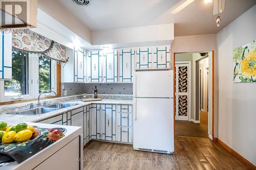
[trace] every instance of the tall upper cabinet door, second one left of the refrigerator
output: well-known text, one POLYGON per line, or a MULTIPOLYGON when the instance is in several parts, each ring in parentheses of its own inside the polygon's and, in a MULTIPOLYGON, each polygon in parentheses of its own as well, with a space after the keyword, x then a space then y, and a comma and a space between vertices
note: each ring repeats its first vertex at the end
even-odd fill
POLYGON ((103 82, 117 82, 117 50, 103 53, 103 82))

